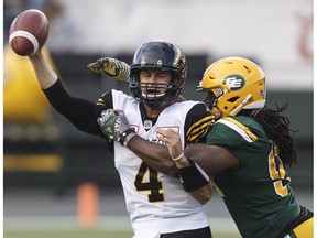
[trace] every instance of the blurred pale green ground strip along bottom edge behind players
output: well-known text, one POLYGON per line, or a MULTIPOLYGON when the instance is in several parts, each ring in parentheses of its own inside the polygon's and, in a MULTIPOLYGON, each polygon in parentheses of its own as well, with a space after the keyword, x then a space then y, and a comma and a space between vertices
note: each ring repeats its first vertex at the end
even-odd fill
MULTIPOLYGON (((241 238, 228 217, 209 218, 212 238, 241 238)), ((100 216, 94 227, 70 217, 4 217, 3 238, 132 238, 128 217, 100 216)), ((193 237, 197 238, 197 237, 193 237)))

